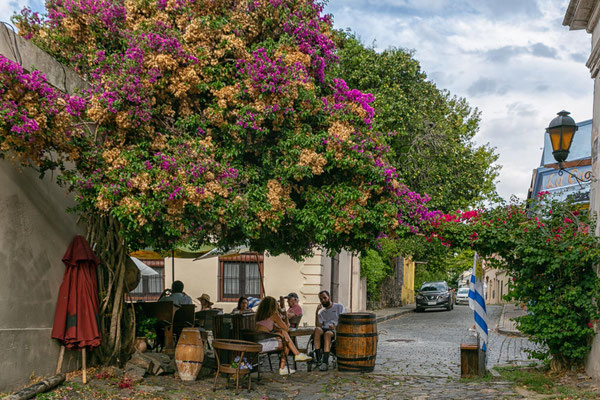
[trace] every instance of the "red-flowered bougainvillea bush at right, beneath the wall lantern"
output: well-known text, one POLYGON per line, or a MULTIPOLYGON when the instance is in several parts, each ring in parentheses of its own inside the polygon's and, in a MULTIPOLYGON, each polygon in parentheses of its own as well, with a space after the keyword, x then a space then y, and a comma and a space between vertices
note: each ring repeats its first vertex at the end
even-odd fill
POLYGON ((583 362, 597 329, 600 246, 593 215, 546 195, 529 204, 441 215, 433 240, 472 248, 507 270, 506 299, 528 310, 519 330, 540 345, 533 355, 563 368, 583 362))

